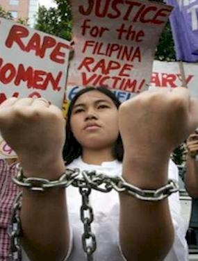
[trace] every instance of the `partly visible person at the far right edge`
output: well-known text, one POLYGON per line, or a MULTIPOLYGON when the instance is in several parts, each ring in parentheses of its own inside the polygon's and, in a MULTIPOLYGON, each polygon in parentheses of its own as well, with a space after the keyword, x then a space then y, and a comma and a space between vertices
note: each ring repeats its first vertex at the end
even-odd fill
POLYGON ((185 165, 185 188, 192 197, 192 211, 189 227, 195 231, 198 246, 198 133, 192 133, 186 142, 187 158, 185 165))

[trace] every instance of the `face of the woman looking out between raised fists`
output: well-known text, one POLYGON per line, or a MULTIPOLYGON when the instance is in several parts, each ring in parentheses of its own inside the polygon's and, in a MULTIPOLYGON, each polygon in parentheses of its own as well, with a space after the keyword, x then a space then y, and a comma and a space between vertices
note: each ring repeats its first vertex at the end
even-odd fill
POLYGON ((113 101, 97 90, 82 94, 71 115, 74 137, 83 148, 112 147, 119 134, 118 111, 113 101))

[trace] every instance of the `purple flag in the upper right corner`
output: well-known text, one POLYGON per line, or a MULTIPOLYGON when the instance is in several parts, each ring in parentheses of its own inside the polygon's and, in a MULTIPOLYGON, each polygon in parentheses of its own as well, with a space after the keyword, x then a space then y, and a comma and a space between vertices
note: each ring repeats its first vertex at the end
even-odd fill
POLYGON ((176 60, 198 61, 198 0, 167 0, 174 6, 170 15, 176 60))

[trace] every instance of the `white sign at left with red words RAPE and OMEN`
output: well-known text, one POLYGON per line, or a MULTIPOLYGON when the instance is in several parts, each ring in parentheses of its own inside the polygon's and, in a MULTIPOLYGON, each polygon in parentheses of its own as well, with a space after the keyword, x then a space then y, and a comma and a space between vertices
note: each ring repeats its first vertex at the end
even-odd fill
POLYGON ((13 96, 43 97, 61 108, 70 42, 3 18, 0 35, 0 104, 13 96))

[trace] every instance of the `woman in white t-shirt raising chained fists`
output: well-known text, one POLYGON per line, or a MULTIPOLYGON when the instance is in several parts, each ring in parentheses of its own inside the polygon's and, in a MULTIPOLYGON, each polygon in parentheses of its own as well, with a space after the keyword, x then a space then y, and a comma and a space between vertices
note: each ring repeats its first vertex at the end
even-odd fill
MULTIPOLYGON (((122 172, 128 183, 147 190, 167 184, 167 167, 168 177, 176 178, 174 164, 168 166, 170 153, 197 125, 197 101, 184 88, 176 89, 167 94, 145 92, 119 110, 119 104, 102 88, 77 94, 69 109, 67 140, 74 135, 78 149, 74 157, 73 151, 66 155, 67 167, 94 169, 108 176, 122 172), (119 130, 124 142, 123 167, 114 149, 115 143, 120 146, 119 130)), ((18 153, 25 176, 60 177, 64 121, 55 106, 40 99, 10 99, 0 107, 0 126, 3 137, 18 153), (14 132, 17 126, 21 128, 14 132)), ((65 152, 67 149, 66 142, 65 152)), ((66 192, 65 199, 60 188, 43 194, 23 190, 22 241, 31 260, 63 260, 65 255, 67 260, 85 260, 79 192, 71 186, 66 192)), ((95 214, 92 230, 97 238, 95 260, 124 260, 122 252, 130 261, 187 260, 178 195, 170 197, 170 209, 167 199, 151 203, 120 193, 118 201, 115 192, 95 191, 90 197, 95 214)))

